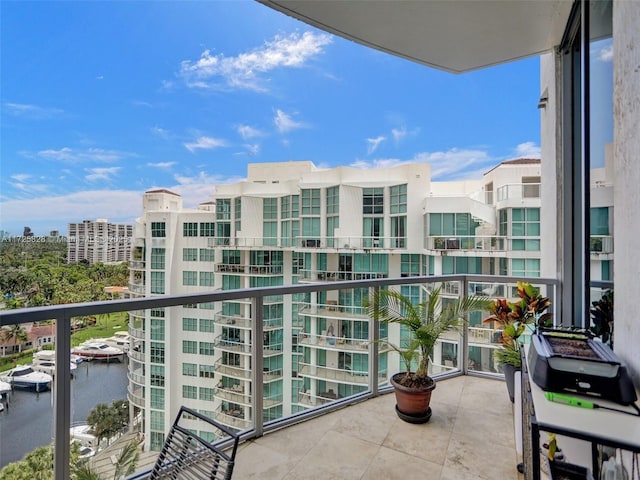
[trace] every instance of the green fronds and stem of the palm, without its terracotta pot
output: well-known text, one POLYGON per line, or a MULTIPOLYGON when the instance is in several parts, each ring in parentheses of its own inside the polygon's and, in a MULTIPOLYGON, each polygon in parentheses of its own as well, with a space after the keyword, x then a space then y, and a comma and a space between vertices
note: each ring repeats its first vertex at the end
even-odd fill
POLYGON ((466 324, 470 311, 486 310, 489 305, 485 297, 476 296, 443 302, 440 293, 439 286, 424 301, 414 303, 397 290, 375 290, 365 304, 372 318, 380 322, 397 323, 411 332, 406 347, 388 344, 400 354, 404 363, 404 375, 397 381, 405 387, 432 384, 429 362, 440 335, 448 330, 460 330, 466 324))

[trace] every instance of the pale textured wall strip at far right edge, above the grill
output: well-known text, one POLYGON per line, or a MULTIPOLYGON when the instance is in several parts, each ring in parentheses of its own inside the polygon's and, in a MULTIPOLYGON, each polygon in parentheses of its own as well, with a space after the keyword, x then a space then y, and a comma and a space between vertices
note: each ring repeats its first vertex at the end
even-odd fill
POLYGON ((640 386, 640 2, 613 4, 614 349, 640 386))

